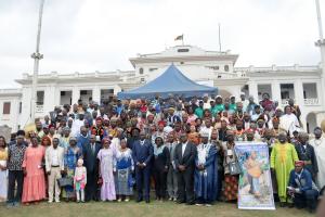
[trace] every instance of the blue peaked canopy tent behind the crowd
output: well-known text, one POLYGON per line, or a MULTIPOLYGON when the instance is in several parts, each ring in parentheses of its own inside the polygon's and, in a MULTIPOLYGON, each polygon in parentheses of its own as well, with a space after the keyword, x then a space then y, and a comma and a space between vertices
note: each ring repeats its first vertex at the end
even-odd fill
POLYGON ((173 64, 171 64, 162 75, 148 84, 135 88, 133 90, 118 92, 119 99, 139 99, 154 98, 157 93, 161 98, 167 98, 168 94, 179 94, 185 98, 200 97, 205 93, 217 93, 218 88, 212 88, 204 85, 198 85, 184 76, 173 64))

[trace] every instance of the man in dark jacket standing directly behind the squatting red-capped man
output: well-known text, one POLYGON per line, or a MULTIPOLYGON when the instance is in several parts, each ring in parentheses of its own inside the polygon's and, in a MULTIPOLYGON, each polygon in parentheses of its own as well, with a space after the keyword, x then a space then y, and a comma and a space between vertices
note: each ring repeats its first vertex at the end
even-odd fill
POLYGON ((299 132, 298 143, 295 144, 298 158, 303 161, 304 168, 311 174, 313 181, 318 173, 318 165, 314 148, 308 142, 309 135, 307 132, 299 132))

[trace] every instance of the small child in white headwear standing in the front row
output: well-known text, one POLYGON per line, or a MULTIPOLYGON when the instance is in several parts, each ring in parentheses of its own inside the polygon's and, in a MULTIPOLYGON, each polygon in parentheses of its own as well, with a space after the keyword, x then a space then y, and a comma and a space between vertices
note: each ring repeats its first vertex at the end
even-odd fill
POLYGON ((84 203, 84 187, 87 184, 87 170, 83 166, 83 159, 79 158, 75 169, 74 186, 77 196, 77 203, 84 203), (81 194, 81 199, 80 199, 81 194))

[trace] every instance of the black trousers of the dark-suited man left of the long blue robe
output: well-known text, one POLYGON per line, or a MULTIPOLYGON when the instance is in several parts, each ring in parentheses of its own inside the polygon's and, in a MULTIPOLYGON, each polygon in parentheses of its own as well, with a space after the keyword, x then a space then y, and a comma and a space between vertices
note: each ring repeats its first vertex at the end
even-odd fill
POLYGON ((178 171, 178 201, 194 203, 194 168, 178 171))

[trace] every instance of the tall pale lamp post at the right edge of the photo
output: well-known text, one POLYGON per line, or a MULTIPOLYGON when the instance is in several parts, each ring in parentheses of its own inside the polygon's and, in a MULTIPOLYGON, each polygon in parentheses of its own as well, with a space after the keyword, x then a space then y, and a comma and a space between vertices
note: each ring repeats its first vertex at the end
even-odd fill
POLYGON ((316 47, 320 47, 321 50, 321 67, 322 67, 322 76, 321 76, 321 82, 322 82, 322 105, 323 110, 325 111, 325 39, 323 36, 323 25, 322 25, 322 16, 321 16, 321 7, 320 7, 320 0, 315 0, 316 3, 316 12, 317 12, 317 23, 318 23, 318 34, 320 39, 315 42, 316 47))

